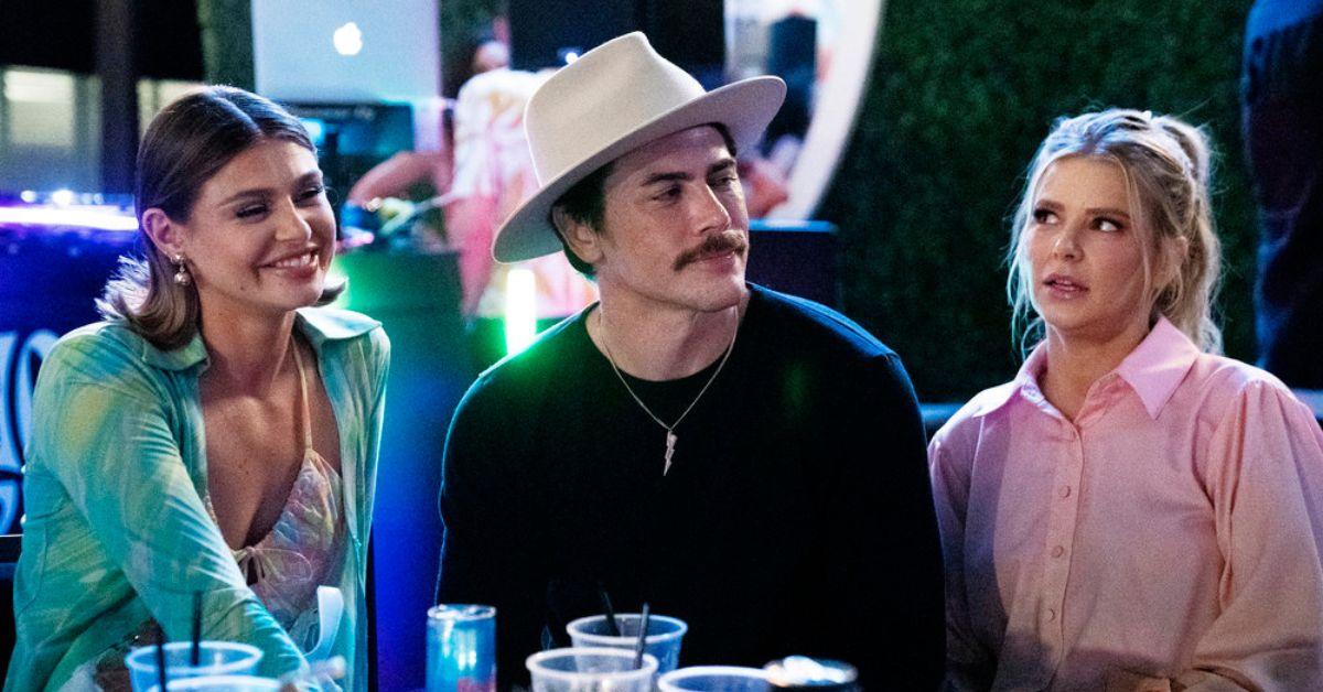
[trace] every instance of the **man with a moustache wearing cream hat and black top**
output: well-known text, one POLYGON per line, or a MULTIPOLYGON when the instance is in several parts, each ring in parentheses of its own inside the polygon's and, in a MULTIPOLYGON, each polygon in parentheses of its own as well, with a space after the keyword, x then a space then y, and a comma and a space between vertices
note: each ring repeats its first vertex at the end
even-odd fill
POLYGON ((844 659, 934 688, 941 550, 896 355, 745 282, 736 150, 785 97, 705 93, 640 33, 561 69, 525 127, 540 192, 496 259, 566 251, 601 302, 468 390, 446 443, 438 597, 497 609, 501 687, 565 622, 688 622, 681 664, 844 659))

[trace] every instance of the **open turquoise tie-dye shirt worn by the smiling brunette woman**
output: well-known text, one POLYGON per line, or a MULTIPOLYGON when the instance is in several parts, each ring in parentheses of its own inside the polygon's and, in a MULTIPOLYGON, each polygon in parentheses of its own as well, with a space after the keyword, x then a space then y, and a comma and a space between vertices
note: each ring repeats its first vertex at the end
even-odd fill
MULTIPOLYGON (((366 688, 365 545, 389 367, 380 327, 329 308, 300 310, 295 325, 318 355, 340 434, 348 540, 335 652, 348 662, 351 689, 366 688)), ((85 687, 87 663, 119 655, 152 618, 168 639, 189 638, 194 591, 204 594, 204 639, 259 647, 262 675, 306 666, 247 586, 202 500, 198 376, 206 364, 201 337, 167 352, 115 322, 66 335, 42 364, 5 689, 85 687)))

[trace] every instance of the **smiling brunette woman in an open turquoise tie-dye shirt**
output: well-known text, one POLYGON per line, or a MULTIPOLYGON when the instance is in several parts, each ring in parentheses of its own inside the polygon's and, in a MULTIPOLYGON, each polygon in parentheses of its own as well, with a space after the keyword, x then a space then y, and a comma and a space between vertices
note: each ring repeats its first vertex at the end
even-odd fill
POLYGON ((135 197, 146 257, 37 381, 5 689, 127 688, 127 650, 157 623, 187 640, 194 593, 202 638, 257 646, 263 675, 329 635, 366 689, 389 344, 314 307, 341 286, 312 143, 270 101, 205 89, 147 128, 135 197), (335 632, 321 585, 344 595, 335 632))

